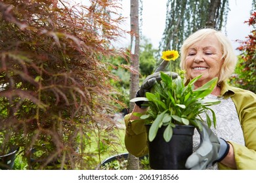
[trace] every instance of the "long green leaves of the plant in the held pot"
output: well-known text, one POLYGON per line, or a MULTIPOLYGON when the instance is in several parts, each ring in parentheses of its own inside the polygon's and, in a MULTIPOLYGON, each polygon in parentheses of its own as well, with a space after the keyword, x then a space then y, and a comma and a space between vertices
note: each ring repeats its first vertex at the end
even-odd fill
POLYGON ((151 124, 148 133, 149 141, 154 140, 162 125, 167 126, 163 133, 166 142, 171 140, 175 124, 193 125, 201 129, 203 120, 200 114, 202 113, 205 113, 207 117, 207 125, 210 127, 213 123, 215 126, 215 112, 209 106, 216 105, 220 101, 204 99, 204 97, 213 91, 217 84, 217 78, 213 78, 194 90, 194 83, 201 76, 190 80, 184 86, 180 77, 172 79, 171 76, 161 72, 161 82, 154 84, 152 92, 146 93, 146 98, 143 99, 148 101, 146 106, 149 107, 149 110, 143 115, 135 114, 140 116, 140 120, 144 120, 145 124, 151 124), (207 110, 211 111, 213 122, 207 114, 207 110))

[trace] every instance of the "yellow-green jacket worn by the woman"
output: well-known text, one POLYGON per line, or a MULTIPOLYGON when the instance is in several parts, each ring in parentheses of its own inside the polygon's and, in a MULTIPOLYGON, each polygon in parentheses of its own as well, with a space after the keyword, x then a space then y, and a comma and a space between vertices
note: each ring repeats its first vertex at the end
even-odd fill
MULTIPOLYGON (((221 83, 221 96, 231 97, 236 105, 238 118, 244 133, 245 146, 230 142, 234 148, 237 169, 256 170, 256 94, 221 83)), ((125 146, 134 156, 148 154, 147 135, 143 122, 130 121, 125 116, 125 146)), ((230 169, 219 163, 219 169, 230 169)))

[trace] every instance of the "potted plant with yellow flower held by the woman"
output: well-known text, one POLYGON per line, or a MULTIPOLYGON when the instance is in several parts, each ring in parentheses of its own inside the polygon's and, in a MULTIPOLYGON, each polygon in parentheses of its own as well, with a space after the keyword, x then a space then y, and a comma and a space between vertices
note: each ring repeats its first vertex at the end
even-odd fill
MULTIPOLYGON (((175 60, 178 57, 179 53, 175 50, 163 52, 162 56, 164 61, 175 60)), ((213 91, 217 78, 195 90, 194 83, 202 75, 193 78, 188 84, 183 82, 184 71, 180 71, 179 75, 173 79, 161 72, 161 81, 154 84, 152 91, 146 93, 146 97, 131 100, 146 101, 145 105, 149 107, 146 113, 134 115, 139 116, 139 120, 144 120, 148 129, 152 169, 186 169, 184 164, 192 154, 194 127, 202 129, 203 119, 200 114, 205 113, 209 127, 215 126, 216 123, 215 112, 209 106, 220 101, 204 97, 213 91), (212 120, 207 111, 211 112, 212 120), (178 152, 179 150, 181 152, 178 152)))

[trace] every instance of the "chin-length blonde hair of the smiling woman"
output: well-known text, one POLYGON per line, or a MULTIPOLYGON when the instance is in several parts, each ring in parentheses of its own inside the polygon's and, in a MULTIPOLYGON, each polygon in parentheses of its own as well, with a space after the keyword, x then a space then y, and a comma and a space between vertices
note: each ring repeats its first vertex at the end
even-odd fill
MULTIPOLYGON (((221 43, 221 51, 223 54, 223 65, 221 66, 221 71, 219 75, 218 83, 226 80, 232 75, 237 63, 237 56, 234 53, 232 44, 230 40, 223 34, 221 31, 216 31, 215 29, 205 28, 192 33, 182 44, 181 46, 181 69, 186 69, 186 56, 188 54, 188 48, 195 42, 201 41, 209 35, 215 35, 218 41, 221 43)), ((189 80, 188 75, 185 74, 186 80, 189 80)))

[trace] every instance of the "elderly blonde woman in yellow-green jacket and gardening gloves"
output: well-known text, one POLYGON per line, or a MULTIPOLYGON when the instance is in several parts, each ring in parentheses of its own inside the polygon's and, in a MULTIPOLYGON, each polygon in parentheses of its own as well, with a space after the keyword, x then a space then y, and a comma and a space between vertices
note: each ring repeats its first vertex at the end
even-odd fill
MULTIPOLYGON (((218 77, 217 86, 207 97, 221 101, 211 107, 217 116, 217 127, 205 126, 202 132, 195 131, 194 152, 186 161, 188 169, 256 169, 256 95, 226 84, 236 61, 230 41, 215 29, 196 31, 181 47, 181 69, 186 70, 186 82, 202 75, 194 84, 199 88, 218 77)), ((146 78, 137 97, 150 91, 158 74, 146 78)), ((140 103, 133 108, 133 112, 146 110, 140 103)), ((138 118, 133 112, 125 116, 125 146, 140 157, 148 153, 146 129, 141 122, 133 123, 138 118)))

